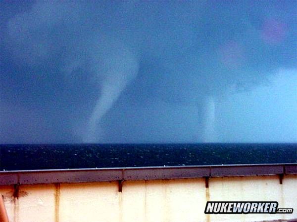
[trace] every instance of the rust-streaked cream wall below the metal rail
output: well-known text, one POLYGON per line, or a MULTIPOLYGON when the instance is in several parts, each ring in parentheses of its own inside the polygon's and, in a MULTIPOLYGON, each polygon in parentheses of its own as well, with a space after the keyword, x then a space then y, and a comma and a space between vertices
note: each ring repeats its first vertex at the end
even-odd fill
POLYGON ((200 222, 297 218, 297 175, 0 186, 10 222, 200 222), (206 201, 278 201, 293 214, 205 215, 206 201))

